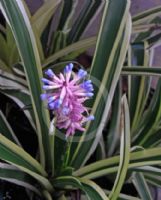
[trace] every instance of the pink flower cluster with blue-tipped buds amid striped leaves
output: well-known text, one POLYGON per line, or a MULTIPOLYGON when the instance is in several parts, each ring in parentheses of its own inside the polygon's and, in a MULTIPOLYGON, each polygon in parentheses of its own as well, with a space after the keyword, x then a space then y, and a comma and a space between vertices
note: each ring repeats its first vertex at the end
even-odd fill
POLYGON ((92 82, 85 79, 87 72, 83 69, 77 73, 72 70, 73 64, 70 63, 64 73, 55 75, 48 69, 45 72, 48 79, 42 78, 47 93, 42 94, 41 99, 47 100, 49 109, 54 111, 56 126, 66 129, 66 137, 74 135, 76 130, 84 131, 84 124, 94 120, 84 106, 84 102, 93 96, 92 82))

